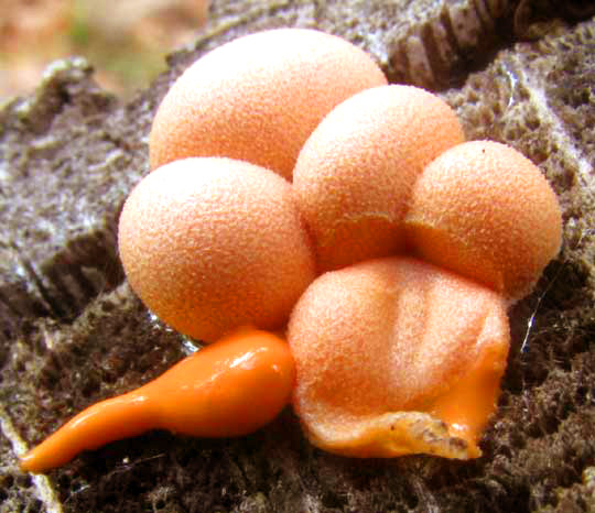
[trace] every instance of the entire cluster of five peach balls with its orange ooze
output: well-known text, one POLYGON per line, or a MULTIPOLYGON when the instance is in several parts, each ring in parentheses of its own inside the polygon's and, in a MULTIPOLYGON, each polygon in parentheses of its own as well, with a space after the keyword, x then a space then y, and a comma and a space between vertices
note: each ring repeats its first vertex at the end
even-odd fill
POLYGON ((150 160, 122 210, 121 260, 164 323, 210 345, 128 394, 138 412, 152 404, 130 433, 57 462, 33 451, 23 468, 150 427, 249 433, 290 401, 336 454, 480 455, 507 307, 561 241, 558 200, 529 160, 465 142, 440 98, 295 29, 190 67, 158 110, 150 160))

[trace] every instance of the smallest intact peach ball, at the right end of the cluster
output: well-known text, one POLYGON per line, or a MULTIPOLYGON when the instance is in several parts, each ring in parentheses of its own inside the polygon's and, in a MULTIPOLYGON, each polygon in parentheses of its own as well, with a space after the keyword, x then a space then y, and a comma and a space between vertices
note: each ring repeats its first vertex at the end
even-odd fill
POLYGON ((459 144, 418 179, 405 230, 418 255, 515 301, 531 291, 561 244, 555 194, 516 150, 459 144))

